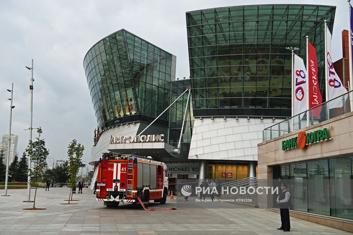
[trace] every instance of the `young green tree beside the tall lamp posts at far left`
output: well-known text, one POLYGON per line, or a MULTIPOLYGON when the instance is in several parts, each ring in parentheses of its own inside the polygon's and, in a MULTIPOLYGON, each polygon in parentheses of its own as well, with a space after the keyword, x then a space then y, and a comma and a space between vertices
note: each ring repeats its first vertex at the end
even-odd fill
MULTIPOLYGON (((42 128, 38 127, 37 129, 38 137, 36 141, 29 141, 27 146, 26 152, 30 157, 31 161, 34 162, 34 168, 28 169, 32 176, 35 176, 35 183, 37 185, 38 177, 42 174, 42 169, 47 166, 47 157, 49 155, 49 151, 45 147, 44 139, 40 139, 41 134, 43 133, 42 128)), ((33 201, 33 209, 35 209, 36 203, 36 194, 37 194, 37 187, 34 193, 34 201, 33 201)))

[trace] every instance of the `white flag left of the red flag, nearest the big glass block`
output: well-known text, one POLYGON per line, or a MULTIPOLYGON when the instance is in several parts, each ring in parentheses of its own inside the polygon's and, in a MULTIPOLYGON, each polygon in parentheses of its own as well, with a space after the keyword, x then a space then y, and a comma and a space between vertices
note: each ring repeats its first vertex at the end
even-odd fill
MULTIPOLYGON (((294 81, 292 81, 292 89, 294 89, 294 116, 307 110, 306 108, 306 84, 307 73, 303 59, 294 54, 294 81)), ((305 113, 300 115, 300 120, 305 113)), ((295 122, 299 120, 294 118, 295 122)))

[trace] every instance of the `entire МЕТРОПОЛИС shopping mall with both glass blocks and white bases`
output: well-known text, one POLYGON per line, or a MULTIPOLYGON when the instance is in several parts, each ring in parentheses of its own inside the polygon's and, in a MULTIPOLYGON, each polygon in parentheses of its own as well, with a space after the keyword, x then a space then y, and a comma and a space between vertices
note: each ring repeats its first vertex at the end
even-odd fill
POLYGON ((152 156, 175 178, 257 176, 263 129, 291 116, 291 51, 305 58, 308 35, 323 71, 323 20, 332 32, 334 16, 295 4, 186 12, 190 78, 125 29, 104 37, 83 64, 98 123, 90 164, 112 151, 152 156))

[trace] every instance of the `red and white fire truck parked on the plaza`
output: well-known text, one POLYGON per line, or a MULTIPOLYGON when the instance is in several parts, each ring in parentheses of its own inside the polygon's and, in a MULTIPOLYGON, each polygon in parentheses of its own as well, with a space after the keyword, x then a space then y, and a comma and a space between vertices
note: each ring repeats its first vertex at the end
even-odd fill
POLYGON ((167 165, 151 157, 103 153, 98 164, 97 201, 108 207, 120 202, 147 206, 150 200, 166 203, 168 191, 167 165))

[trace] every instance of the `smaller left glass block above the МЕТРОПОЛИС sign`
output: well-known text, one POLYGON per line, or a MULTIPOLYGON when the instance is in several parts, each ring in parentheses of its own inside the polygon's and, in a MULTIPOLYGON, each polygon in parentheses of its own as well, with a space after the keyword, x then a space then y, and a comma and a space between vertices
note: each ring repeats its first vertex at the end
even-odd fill
MULTIPOLYGON (((97 42, 85 55, 83 66, 98 127, 154 120, 170 104, 175 60, 124 29, 97 42)), ((155 123, 168 127, 169 113, 155 123)))

